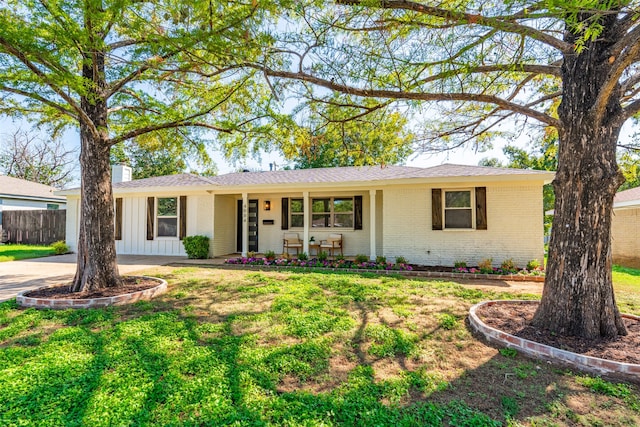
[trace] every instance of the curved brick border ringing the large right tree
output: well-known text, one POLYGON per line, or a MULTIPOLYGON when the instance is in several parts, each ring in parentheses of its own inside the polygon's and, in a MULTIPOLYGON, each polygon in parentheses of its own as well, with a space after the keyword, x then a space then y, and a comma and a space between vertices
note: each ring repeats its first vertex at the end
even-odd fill
MULTIPOLYGON (((480 307, 485 305, 538 303, 539 301, 527 300, 494 300, 481 302, 469 309, 469 324, 475 332, 481 334, 487 341, 516 349, 529 357, 556 362, 596 375, 608 375, 636 383, 640 382, 640 364, 616 362, 598 357, 585 356, 516 337, 515 335, 507 334, 506 332, 488 326, 480 320, 476 313, 480 307)), ((640 316, 623 314, 622 317, 640 321, 640 316)))

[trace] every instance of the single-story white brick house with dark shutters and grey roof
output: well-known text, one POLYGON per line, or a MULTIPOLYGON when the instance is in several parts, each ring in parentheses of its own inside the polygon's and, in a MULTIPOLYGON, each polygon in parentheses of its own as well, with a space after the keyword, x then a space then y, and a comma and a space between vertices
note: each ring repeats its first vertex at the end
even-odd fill
MULTIPOLYGON (((118 168, 114 177, 127 176, 118 168)), ((212 257, 282 253, 284 233, 297 233, 301 249, 315 255, 311 240, 338 233, 345 256, 424 265, 512 258, 522 266, 543 259, 542 186, 553 176, 444 164, 125 179, 113 184, 116 250, 185 255, 180 240, 200 234, 210 237, 212 257)), ((75 250, 80 191, 59 194, 75 250)))

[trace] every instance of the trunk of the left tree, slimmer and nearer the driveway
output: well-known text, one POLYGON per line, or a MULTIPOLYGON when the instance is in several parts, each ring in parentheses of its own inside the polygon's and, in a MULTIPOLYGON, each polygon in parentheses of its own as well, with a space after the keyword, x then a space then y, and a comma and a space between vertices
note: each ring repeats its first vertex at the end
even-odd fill
POLYGON ((118 286, 121 278, 116 262, 111 165, 107 133, 107 104, 104 101, 104 55, 91 52, 85 57, 83 77, 88 95, 81 99, 86 117, 97 129, 80 124, 80 233, 78 265, 73 291, 95 290, 118 286))

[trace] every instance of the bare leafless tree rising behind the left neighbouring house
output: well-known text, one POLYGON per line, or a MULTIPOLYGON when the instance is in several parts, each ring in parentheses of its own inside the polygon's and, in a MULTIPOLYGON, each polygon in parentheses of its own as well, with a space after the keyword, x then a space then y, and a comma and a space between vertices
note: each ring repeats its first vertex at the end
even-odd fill
POLYGON ((59 139, 45 141, 18 129, 0 144, 0 171, 5 175, 57 188, 74 179, 77 150, 68 150, 59 139))

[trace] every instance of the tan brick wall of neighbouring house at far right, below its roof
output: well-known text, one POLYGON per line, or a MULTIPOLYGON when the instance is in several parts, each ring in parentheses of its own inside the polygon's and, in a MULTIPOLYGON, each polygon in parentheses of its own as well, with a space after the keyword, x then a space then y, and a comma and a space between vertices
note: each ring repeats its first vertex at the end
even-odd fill
POLYGON ((640 268, 640 208, 613 211, 611 250, 615 264, 640 268))

